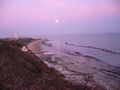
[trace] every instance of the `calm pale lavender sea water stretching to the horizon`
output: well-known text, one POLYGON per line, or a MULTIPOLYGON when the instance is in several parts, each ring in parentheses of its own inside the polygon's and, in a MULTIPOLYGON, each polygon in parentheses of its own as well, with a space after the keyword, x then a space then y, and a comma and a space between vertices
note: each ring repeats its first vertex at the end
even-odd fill
POLYGON ((110 65, 120 66, 120 55, 110 54, 103 51, 66 45, 65 42, 92 46, 97 48, 105 48, 115 52, 120 52, 120 35, 56 35, 47 36, 53 46, 61 49, 81 52, 83 55, 96 57, 110 65))

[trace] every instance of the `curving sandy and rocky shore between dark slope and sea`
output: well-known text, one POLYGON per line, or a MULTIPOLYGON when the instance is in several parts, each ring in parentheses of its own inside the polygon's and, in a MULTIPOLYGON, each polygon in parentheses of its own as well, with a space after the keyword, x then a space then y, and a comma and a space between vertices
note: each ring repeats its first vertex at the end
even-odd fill
POLYGON ((65 76, 66 80, 72 83, 102 86, 107 90, 118 90, 120 88, 119 67, 109 65, 80 52, 52 48, 52 46, 44 44, 41 40, 30 43, 28 48, 49 67, 55 68, 65 76), (56 53, 47 52, 44 48, 51 48, 51 51, 56 53))

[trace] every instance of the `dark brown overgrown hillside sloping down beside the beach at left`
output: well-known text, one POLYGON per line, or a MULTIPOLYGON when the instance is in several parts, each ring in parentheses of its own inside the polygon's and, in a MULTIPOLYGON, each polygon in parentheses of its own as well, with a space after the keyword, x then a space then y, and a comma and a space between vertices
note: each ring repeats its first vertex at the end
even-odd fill
POLYGON ((103 90, 65 81, 21 41, 0 40, 0 90, 103 90))

